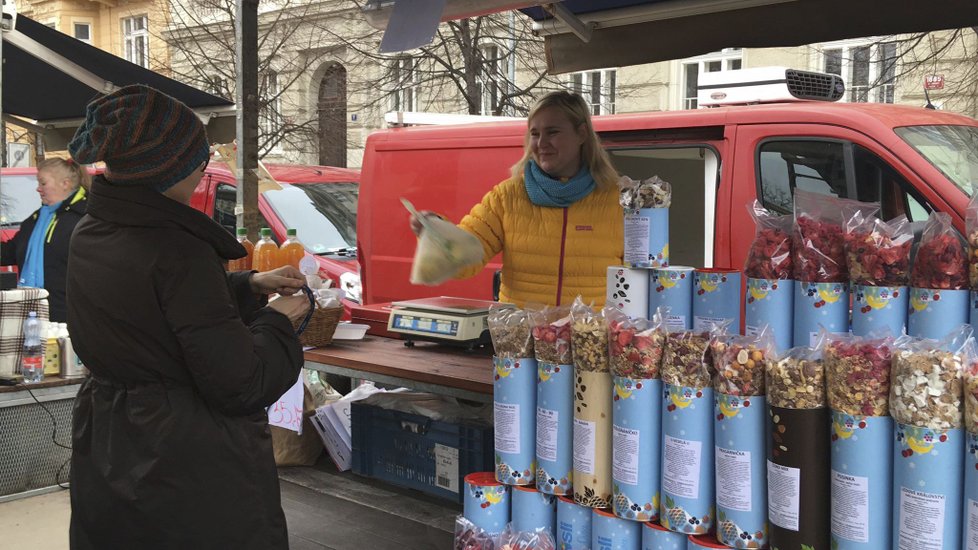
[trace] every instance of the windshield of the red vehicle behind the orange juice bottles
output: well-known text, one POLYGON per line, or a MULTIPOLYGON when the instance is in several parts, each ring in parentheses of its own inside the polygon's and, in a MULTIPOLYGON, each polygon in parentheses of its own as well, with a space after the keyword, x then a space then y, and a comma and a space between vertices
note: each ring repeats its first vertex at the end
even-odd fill
POLYGON ((341 253, 357 244, 356 183, 283 184, 265 191, 279 220, 298 232, 299 241, 312 254, 341 253))

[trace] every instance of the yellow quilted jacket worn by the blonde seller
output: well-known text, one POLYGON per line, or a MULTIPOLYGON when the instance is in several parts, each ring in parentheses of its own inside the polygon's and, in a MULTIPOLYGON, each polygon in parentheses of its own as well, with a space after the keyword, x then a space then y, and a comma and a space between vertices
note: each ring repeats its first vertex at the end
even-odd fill
POLYGON ((603 307, 607 268, 622 262, 622 219, 614 186, 598 186, 568 208, 546 208, 530 202, 522 177, 508 179, 459 223, 485 250, 482 265, 459 278, 476 275, 502 252, 500 301, 560 305, 580 294, 603 307))

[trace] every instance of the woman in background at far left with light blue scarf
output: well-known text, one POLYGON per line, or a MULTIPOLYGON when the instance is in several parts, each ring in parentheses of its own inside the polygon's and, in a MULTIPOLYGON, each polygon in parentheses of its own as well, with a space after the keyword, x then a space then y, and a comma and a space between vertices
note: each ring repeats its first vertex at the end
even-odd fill
POLYGON ((0 264, 16 265, 17 286, 48 291, 49 318, 65 322, 68 243, 88 208, 88 171, 71 159, 47 159, 37 165, 41 208, 20 223, 9 243, 0 246, 0 264))

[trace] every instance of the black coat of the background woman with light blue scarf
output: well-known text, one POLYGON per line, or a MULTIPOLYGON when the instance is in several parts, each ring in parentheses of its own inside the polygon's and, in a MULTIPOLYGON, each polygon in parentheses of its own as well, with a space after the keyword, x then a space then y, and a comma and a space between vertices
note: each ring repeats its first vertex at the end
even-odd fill
MULTIPOLYGON (((88 195, 81 187, 62 201, 51 220, 51 235, 44 239, 44 288, 48 291, 50 319, 57 323, 66 320, 65 276, 68 274, 68 243, 71 233, 88 210, 88 195)), ((24 270, 27 259, 27 243, 31 240, 40 210, 20 223, 20 229, 9 243, 0 246, 0 265, 16 265, 24 270)))

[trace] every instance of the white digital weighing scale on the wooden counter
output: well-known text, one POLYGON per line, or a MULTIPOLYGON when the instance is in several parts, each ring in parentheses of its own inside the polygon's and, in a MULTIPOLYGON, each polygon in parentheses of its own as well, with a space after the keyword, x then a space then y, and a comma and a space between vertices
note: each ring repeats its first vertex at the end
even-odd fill
POLYGON ((499 302, 449 296, 393 302, 387 330, 403 334, 406 346, 425 340, 471 350, 491 342, 488 316, 492 305, 499 302))

